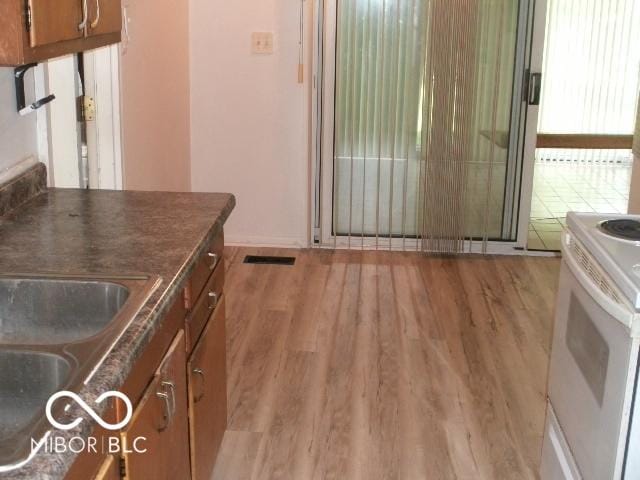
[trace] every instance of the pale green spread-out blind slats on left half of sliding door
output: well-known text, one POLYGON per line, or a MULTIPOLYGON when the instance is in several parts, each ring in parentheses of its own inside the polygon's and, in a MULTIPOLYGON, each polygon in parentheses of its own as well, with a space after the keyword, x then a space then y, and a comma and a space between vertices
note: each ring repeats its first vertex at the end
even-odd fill
POLYGON ((339 2, 334 131, 338 234, 416 234, 427 11, 422 0, 339 2))

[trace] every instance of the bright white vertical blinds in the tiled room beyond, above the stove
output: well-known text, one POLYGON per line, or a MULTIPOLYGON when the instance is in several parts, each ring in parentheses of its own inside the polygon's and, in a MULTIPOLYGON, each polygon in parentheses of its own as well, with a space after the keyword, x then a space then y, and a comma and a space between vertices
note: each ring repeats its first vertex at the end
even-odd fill
MULTIPOLYGON (((630 135, 640 81, 638 0, 548 0, 541 133, 630 135)), ((538 159, 629 160, 629 152, 545 149, 538 159)))

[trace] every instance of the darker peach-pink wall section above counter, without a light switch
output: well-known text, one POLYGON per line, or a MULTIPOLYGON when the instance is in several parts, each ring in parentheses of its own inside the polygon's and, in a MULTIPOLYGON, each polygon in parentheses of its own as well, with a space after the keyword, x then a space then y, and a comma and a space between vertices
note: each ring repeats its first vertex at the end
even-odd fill
POLYGON ((122 144, 127 190, 188 191, 189 0, 125 0, 122 144))

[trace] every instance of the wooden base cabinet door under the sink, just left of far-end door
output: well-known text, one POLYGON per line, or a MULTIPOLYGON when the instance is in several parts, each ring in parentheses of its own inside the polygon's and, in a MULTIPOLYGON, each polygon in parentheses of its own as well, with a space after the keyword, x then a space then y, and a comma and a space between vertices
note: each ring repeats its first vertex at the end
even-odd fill
POLYGON ((190 477, 185 357, 181 330, 122 434, 123 445, 129 450, 140 437, 144 440, 139 447, 146 449, 144 453, 125 454, 127 479, 190 477))

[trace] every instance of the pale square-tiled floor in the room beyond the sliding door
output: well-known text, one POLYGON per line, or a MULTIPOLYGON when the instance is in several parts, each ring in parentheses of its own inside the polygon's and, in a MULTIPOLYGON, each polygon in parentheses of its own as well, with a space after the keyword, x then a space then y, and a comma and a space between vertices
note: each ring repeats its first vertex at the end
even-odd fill
POLYGON ((559 250, 568 211, 627 213, 631 165, 538 162, 528 247, 559 250))

